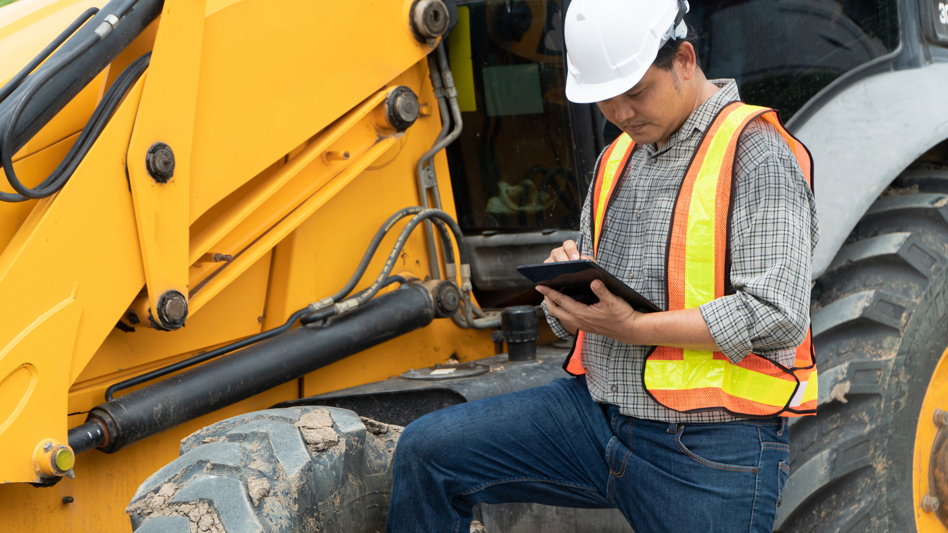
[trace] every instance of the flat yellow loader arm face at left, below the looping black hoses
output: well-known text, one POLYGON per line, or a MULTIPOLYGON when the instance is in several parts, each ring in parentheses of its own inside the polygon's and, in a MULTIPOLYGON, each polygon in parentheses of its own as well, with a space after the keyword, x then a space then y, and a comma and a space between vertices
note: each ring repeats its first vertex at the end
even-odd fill
POLYGON ((65 377, 92 357, 144 285, 128 182, 115 156, 128 145, 140 95, 139 82, 72 179, 37 203, 0 253, 0 302, 16 302, 0 305, 2 344, 62 301, 75 282, 82 285, 82 323, 73 361, 63 365, 65 377))

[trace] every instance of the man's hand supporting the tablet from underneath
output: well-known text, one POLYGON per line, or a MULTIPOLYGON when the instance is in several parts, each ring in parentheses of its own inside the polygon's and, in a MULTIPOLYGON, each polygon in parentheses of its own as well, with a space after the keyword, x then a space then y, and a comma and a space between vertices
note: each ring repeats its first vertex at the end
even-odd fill
POLYGON ((628 302, 612 294, 599 280, 590 284, 599 302, 587 305, 578 303, 565 294, 548 286, 537 285, 543 294, 550 314, 579 329, 614 340, 635 343, 635 321, 642 313, 632 309, 628 302))

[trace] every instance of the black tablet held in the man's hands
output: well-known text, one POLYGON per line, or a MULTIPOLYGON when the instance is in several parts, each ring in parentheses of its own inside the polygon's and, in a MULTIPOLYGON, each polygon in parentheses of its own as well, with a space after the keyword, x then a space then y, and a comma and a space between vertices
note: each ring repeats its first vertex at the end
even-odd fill
POLYGON ((646 297, 615 278, 603 267, 599 267, 589 259, 576 261, 560 261, 558 263, 542 263, 540 265, 523 265, 517 271, 537 285, 555 288, 559 292, 573 298, 576 302, 591 305, 599 302, 590 284, 593 280, 600 280, 606 284, 609 291, 622 298, 636 311, 651 313, 661 311, 657 305, 646 297))

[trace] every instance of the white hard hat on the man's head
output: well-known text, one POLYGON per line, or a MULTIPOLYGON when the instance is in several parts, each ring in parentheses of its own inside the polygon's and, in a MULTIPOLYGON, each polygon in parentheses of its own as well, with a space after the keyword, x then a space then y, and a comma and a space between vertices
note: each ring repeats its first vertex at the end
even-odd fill
POLYGON ((566 11, 566 98, 609 100, 645 76, 668 39, 687 35, 686 0, 573 0, 566 11))

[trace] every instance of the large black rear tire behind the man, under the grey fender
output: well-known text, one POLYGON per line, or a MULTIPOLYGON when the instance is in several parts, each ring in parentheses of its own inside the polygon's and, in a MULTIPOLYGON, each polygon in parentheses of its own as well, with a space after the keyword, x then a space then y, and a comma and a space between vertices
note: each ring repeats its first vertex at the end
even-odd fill
POLYGON ((818 414, 792 419, 780 532, 914 532, 921 403, 948 346, 948 169, 900 175, 812 291, 818 414))

